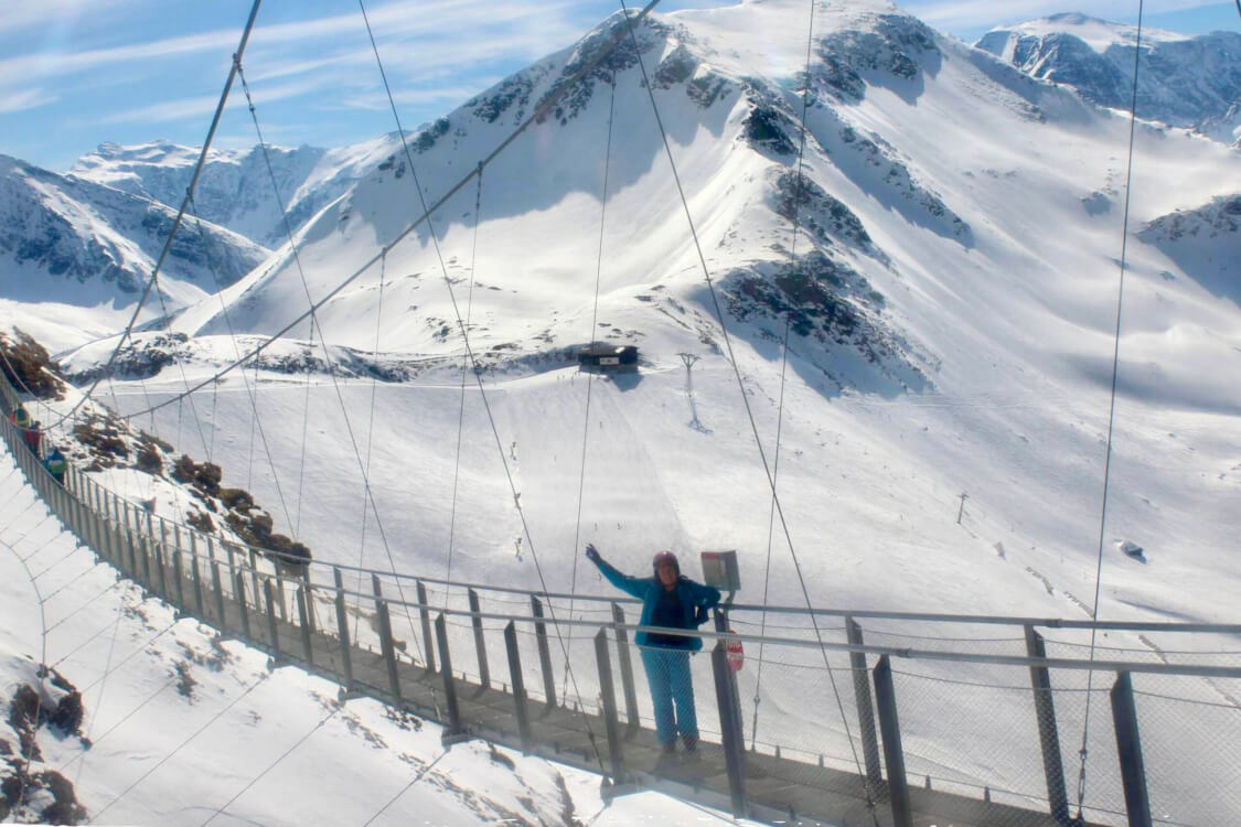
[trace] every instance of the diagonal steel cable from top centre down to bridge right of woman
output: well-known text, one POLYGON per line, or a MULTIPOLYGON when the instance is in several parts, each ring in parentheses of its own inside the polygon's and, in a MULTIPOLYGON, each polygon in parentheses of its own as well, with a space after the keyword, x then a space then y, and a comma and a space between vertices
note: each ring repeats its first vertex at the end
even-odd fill
MULTIPOLYGON (((755 420, 753 410, 750 407, 750 394, 746 393, 746 384, 745 384, 745 382, 741 378, 741 367, 737 363, 736 353, 732 350, 732 337, 728 335, 728 326, 725 324, 725 320, 724 320, 724 310, 720 306, 720 298, 719 298, 719 295, 716 295, 715 283, 711 279, 711 270, 707 267, 706 257, 702 253, 702 244, 699 242, 697 229, 694 226, 694 217, 690 213, 689 200, 685 197, 685 187, 681 185, 680 174, 676 171, 676 161, 673 159, 673 146, 671 146, 671 143, 668 139, 668 131, 664 129, 663 119, 659 115, 659 105, 655 103, 654 87, 652 86, 650 79, 647 77, 645 61, 642 60, 642 48, 638 45, 638 36, 634 32, 634 22, 637 22, 637 21, 634 21, 633 19, 629 17, 629 9, 628 9, 628 6, 625 6, 624 0, 620 0, 620 7, 624 10, 625 21, 629 24, 628 25, 629 38, 633 42, 634 52, 638 56, 638 67, 642 69, 643 83, 644 83, 644 86, 647 88, 647 95, 650 99, 650 108, 652 108, 652 110, 653 110, 653 113, 655 115, 655 124, 656 124, 656 126, 659 126, 659 134, 660 134, 660 138, 661 138, 663 144, 664 144, 664 153, 668 156, 668 164, 669 164, 669 166, 671 169, 671 172, 673 172, 673 180, 676 182, 676 192, 680 196, 681 207, 683 207, 683 210, 685 212, 685 221, 689 224, 690 236, 691 236, 691 238, 694 241, 694 248, 697 252, 699 264, 702 268, 702 275, 706 279, 707 291, 711 295, 711 303, 712 303, 712 305, 715 307, 716 317, 717 317, 717 320, 720 322, 720 331, 721 331, 721 334, 724 336, 725 347, 726 347, 726 350, 728 352, 728 361, 732 363, 732 369, 733 369, 733 373, 736 374, 736 378, 737 378, 737 387, 741 391, 741 400, 745 404, 746 415, 750 419, 750 429, 751 429, 751 431, 753 434, 753 438, 755 438, 755 446, 758 449, 758 456, 762 460, 763 471, 767 475, 767 484, 768 484, 768 487, 771 487, 772 501, 776 503, 776 512, 779 516, 781 527, 784 531, 784 539, 788 542, 788 551, 789 551, 791 557, 793 558, 793 568, 797 572, 797 579, 798 579, 798 583, 802 586, 802 595, 805 599, 807 608, 813 608, 813 603, 810 601, 810 593, 809 593, 809 589, 805 585, 805 577, 802 573, 802 564, 800 564, 800 562, 797 558, 797 549, 793 546, 793 537, 792 537, 792 534, 789 532, 788 522, 784 518, 784 510, 781 506, 779 495, 778 495, 778 492, 776 490, 776 480, 774 480, 774 477, 772 475, 771 465, 767 461, 767 454, 763 450, 762 438, 758 435, 758 424, 755 420)), ((876 808, 875 808, 875 801, 874 801, 874 797, 871 796, 871 792, 870 792, 870 785, 865 782, 866 774, 865 774, 865 771, 861 767, 861 759, 858 756, 858 746, 856 746, 856 744, 854 744, 851 728, 849 727, 849 717, 845 714, 844 702, 840 699, 840 689, 836 686, 835 671, 831 668, 831 665, 828 662, 828 650, 823 646, 823 632, 819 629, 818 617, 815 617, 815 615, 814 615, 813 611, 810 613, 810 622, 814 626, 814 637, 815 637, 815 640, 818 642, 819 651, 823 655, 823 666, 827 668, 828 677, 829 677, 829 679, 831 682, 831 693, 835 696, 836 708, 840 712, 840 722, 841 722, 841 724, 844 725, 844 729, 845 729, 845 738, 849 741, 849 749, 853 751, 854 764, 858 767, 858 775, 862 780, 862 791, 865 792, 865 796, 866 796, 866 807, 867 807, 867 810, 870 812, 871 820, 874 821, 875 826, 879 827, 879 815, 877 815, 876 808)))

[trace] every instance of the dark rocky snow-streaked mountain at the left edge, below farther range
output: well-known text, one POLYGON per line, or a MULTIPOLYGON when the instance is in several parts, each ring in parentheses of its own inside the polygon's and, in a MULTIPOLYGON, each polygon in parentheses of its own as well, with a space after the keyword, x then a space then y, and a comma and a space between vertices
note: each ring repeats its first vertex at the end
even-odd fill
MULTIPOLYGON (((0 156, 0 298, 132 305, 175 217, 150 198, 0 156)), ((200 233, 189 221, 164 263, 161 291, 170 310, 181 307, 232 284, 269 253, 208 222, 200 233)), ((154 298, 151 304, 158 310, 154 298)))

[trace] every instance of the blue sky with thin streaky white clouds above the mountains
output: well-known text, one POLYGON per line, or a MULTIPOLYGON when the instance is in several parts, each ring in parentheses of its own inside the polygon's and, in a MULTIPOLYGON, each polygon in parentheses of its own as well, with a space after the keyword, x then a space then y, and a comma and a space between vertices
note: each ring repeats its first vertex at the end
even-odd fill
MULTIPOLYGON (((0 154, 56 171, 103 141, 197 145, 251 0, 40 0, 0 17, 0 154)), ((660 11, 730 5, 664 0, 660 11)), ((371 0, 367 15, 406 128, 452 110, 571 45, 619 0, 371 0)), ((1057 11, 1134 22, 1137 0, 908 0, 972 41, 1057 11)), ((1234 2, 1147 0, 1147 22, 1185 33, 1241 29, 1234 2)), ((266 0, 243 62, 263 135, 339 146, 395 129, 356 0, 266 0)), ((251 146, 236 88, 216 145, 251 146)))

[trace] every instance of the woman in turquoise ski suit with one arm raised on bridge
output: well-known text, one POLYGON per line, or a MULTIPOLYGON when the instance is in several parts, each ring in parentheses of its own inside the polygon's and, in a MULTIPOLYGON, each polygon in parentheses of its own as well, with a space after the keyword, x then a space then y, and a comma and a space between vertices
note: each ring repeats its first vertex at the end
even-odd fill
MULTIPOLYGON (((642 600, 640 626, 697 629, 706 621, 707 610, 720 603, 719 589, 681 575, 681 567, 671 552, 655 554, 652 560, 654 577, 649 578, 622 574, 599 557, 593 544, 586 547, 586 558, 599 567, 599 572, 612 585, 642 600)), ((702 648, 702 639, 675 632, 639 631, 634 642, 639 646, 642 663, 647 667, 650 699, 655 707, 655 732, 664 753, 676 751, 678 729, 685 751, 694 753, 699 733, 694 684, 690 679, 690 653, 702 648)))

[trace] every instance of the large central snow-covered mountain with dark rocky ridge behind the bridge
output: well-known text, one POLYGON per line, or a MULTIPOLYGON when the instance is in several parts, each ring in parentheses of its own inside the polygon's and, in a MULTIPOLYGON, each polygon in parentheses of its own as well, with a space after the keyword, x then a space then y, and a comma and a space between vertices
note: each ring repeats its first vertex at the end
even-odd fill
MULTIPOLYGON (((805 22, 800 4, 751 2, 656 19, 639 42, 769 462, 778 340, 784 320, 793 325, 781 490, 813 593, 866 608, 1081 613, 1098 544, 1128 123, 889 6, 820 9, 813 187, 803 188, 797 239, 814 278, 791 278, 799 273, 783 269, 793 241, 782 181, 795 162, 805 22), (962 491, 965 528, 954 522, 962 491)), ((423 131, 412 151, 428 198, 616 24, 423 131)), ((764 582, 766 477, 632 50, 607 72, 485 171, 477 260, 473 187, 437 217, 454 296, 423 227, 387 250, 382 272, 376 263, 318 312, 315 351, 324 340, 364 353, 379 342, 429 365, 376 394, 372 474, 385 481, 376 500, 387 534, 402 538, 396 548, 370 537, 357 549, 372 427, 365 379, 318 376, 309 389, 304 374, 264 381, 264 420, 300 423, 311 399, 304 430, 272 436, 274 469, 254 459, 237 377, 208 386, 217 413, 204 428, 215 428, 226 476, 254 477, 266 502, 283 491, 290 503, 302 479, 315 505, 290 507, 285 521, 314 548, 354 549, 323 553, 375 564, 391 551, 403 568, 439 567, 454 524, 463 577, 504 565, 501 577, 537 583, 530 555, 517 559, 521 523, 505 505, 511 493, 473 389, 452 518, 460 379, 434 366, 462 351, 455 299, 494 369, 499 441, 505 451, 517 443, 521 506, 561 585, 576 559, 566 492, 580 472, 573 434, 585 399, 581 379, 549 368, 563 363, 561 348, 596 335, 639 345, 645 368, 638 381, 597 384, 583 527, 598 526, 601 547, 635 565, 669 543, 691 555, 737 547, 745 582, 764 582), (592 330, 611 71, 623 128, 592 330), (681 351, 702 357, 692 409, 681 351), (645 516, 640 524, 634 515, 645 516)), ((1241 160, 1219 144, 1140 125, 1137 138, 1131 227, 1237 191, 1241 160)), ((300 270, 284 252, 177 320, 213 355, 191 374, 228 352, 218 335, 280 330, 305 311, 308 293, 324 295, 418 214, 400 145, 377 146, 370 162, 303 231, 300 270)), ((1198 366, 1241 367, 1236 306, 1150 244, 1131 243, 1127 264, 1102 614, 1222 619, 1236 586, 1219 554, 1237 528, 1222 503, 1239 484, 1230 445, 1241 397, 1198 366), (1147 567, 1113 560, 1113 541, 1126 538, 1167 554, 1147 567)), ((101 343, 72 363, 107 352, 101 343)), ((123 404, 140 409, 145 394, 180 382, 165 374, 156 384, 123 404)), ((177 444, 208 443, 187 441, 176 407, 160 417, 166 438, 180 428, 177 444)), ((797 599, 787 557, 772 578, 784 601, 797 599)))

